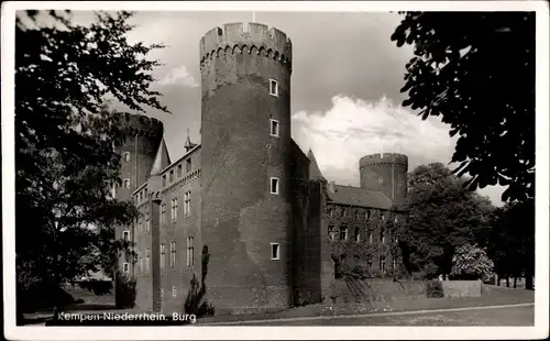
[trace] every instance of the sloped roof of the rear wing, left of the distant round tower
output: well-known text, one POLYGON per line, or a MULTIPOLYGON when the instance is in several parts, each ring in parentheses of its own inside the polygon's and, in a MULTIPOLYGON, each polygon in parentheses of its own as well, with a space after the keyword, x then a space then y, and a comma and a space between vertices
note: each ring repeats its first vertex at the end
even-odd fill
POLYGON ((359 187, 334 185, 334 191, 328 191, 329 199, 334 204, 391 209, 392 200, 382 191, 359 187))

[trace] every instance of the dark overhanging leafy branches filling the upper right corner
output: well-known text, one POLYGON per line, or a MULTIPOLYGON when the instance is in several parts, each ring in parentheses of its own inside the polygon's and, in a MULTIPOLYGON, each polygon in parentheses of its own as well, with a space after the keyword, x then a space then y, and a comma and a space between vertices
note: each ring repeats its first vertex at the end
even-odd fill
POLYGON ((535 13, 406 12, 392 35, 413 44, 405 107, 459 134, 452 162, 471 189, 535 197, 535 13))

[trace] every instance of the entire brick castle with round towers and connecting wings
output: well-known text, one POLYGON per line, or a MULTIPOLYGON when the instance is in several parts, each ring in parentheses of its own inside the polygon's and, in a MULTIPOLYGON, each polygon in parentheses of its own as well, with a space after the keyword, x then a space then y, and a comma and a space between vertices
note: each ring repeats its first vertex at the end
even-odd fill
POLYGON ((119 263, 139 308, 183 312, 191 280, 216 311, 282 308, 327 299, 338 266, 398 271, 407 156, 362 157, 360 187, 328 182, 290 138, 292 54, 285 33, 257 23, 206 33, 201 143, 187 136, 179 160, 158 120, 123 116, 116 196, 141 217, 117 238, 135 243, 135 262, 119 263))

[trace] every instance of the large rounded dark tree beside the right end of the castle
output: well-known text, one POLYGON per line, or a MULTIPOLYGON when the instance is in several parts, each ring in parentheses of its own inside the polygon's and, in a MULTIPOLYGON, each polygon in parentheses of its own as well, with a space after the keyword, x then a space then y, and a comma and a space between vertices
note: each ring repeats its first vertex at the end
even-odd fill
POLYGON ((440 163, 422 165, 409 175, 409 218, 399 231, 399 245, 409 273, 435 278, 451 273, 454 250, 475 242, 490 223, 488 199, 464 188, 440 163))

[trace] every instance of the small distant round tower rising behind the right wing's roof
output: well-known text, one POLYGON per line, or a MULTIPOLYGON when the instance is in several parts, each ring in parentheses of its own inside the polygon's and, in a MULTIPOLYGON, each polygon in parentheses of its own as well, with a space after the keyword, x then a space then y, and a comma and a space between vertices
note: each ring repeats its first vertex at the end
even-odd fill
POLYGON ((407 197, 408 157, 398 153, 378 153, 359 161, 361 188, 380 190, 392 201, 403 204, 407 197))

